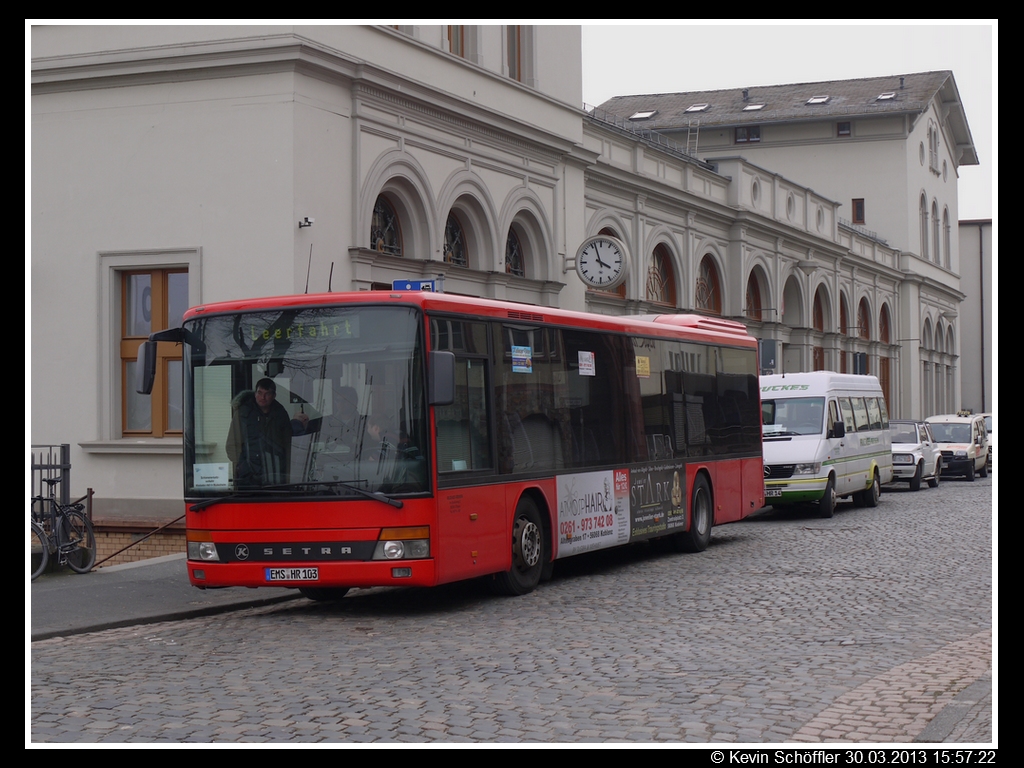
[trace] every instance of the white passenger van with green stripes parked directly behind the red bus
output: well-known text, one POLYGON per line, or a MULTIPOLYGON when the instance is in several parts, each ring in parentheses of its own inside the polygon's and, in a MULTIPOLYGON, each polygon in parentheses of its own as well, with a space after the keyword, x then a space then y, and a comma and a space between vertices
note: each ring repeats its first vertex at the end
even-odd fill
POLYGON ((892 482, 889 412, 873 376, 830 371, 761 377, 765 504, 879 503, 892 482))

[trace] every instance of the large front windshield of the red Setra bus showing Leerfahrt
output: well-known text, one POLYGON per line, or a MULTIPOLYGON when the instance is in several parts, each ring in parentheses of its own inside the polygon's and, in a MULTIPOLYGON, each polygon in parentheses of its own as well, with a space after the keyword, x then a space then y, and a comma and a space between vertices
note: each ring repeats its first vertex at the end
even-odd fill
POLYGON ((419 312, 328 306, 185 323, 185 496, 424 493, 419 312))

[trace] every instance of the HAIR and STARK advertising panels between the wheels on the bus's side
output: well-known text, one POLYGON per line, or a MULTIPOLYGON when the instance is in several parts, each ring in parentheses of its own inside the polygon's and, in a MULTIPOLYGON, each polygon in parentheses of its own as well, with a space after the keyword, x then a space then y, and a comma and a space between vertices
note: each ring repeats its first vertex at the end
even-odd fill
POLYGON ((558 557, 665 536, 686 526, 686 466, 558 475, 558 557))

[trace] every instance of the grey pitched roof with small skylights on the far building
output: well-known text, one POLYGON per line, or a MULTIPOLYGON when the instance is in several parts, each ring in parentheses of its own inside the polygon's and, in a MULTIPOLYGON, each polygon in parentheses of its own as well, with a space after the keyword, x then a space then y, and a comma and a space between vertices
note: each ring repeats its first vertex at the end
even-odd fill
POLYGON ((648 93, 609 98, 598 110, 622 120, 639 112, 654 114, 632 121, 638 127, 670 132, 685 129, 690 121, 706 126, 734 126, 805 120, 837 120, 884 114, 920 114, 939 95, 949 108, 949 129, 965 150, 962 164, 978 162, 967 116, 949 71, 920 72, 858 80, 826 80, 788 85, 741 85, 715 91, 648 93), (902 81, 902 82, 901 82, 902 81), (744 98, 743 91, 746 91, 744 98), (880 99, 883 93, 895 94, 880 99), (827 96, 823 103, 808 103, 813 96, 827 96), (686 112, 694 104, 708 104, 700 112, 686 112), (760 110, 744 110, 764 104, 760 110))

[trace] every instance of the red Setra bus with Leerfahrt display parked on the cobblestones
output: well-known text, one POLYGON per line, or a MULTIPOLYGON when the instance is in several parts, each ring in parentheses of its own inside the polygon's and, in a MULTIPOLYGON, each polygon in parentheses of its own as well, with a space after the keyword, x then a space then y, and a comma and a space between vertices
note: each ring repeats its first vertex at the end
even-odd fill
POLYGON ((426 292, 189 309, 191 584, 348 589, 490 577, 764 504, 757 342, 697 315, 605 316, 426 292))

